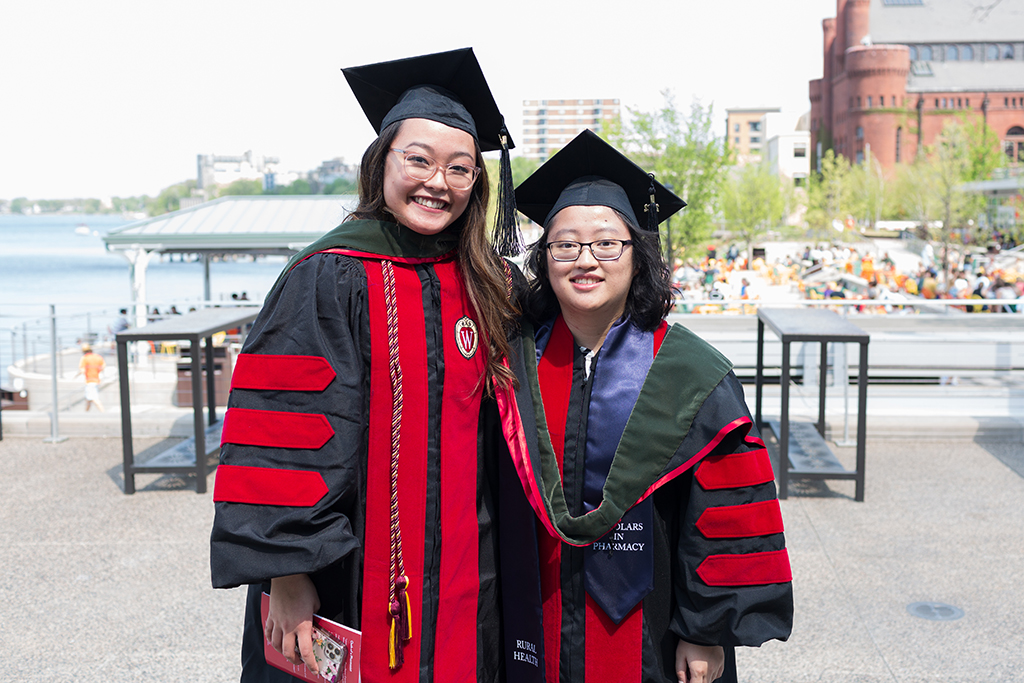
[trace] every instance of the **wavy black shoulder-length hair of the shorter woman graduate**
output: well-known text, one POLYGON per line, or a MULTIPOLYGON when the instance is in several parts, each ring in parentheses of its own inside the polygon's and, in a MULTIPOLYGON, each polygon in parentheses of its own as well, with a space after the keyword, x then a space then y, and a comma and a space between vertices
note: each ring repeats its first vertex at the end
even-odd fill
MULTIPOLYGON (((612 211, 629 228, 633 241, 633 282, 626 296, 626 313, 633 325, 649 332, 657 328, 672 310, 676 293, 672 271, 662 255, 657 234, 638 230, 627 216, 614 209, 612 211)), ((526 255, 526 265, 535 275, 526 297, 526 311, 534 323, 549 321, 559 311, 558 298, 548 278, 547 244, 552 223, 554 217, 544 226, 541 239, 530 246, 526 255)))

